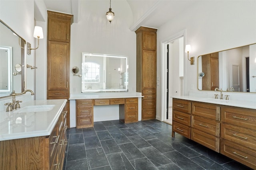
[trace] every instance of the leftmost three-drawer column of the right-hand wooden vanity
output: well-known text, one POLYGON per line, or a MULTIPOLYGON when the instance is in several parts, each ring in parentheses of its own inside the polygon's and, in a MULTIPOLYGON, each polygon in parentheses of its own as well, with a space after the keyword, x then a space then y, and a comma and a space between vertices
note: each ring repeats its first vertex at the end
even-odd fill
POLYGON ((175 132, 190 139, 191 102, 180 99, 172 100, 172 137, 175 132))

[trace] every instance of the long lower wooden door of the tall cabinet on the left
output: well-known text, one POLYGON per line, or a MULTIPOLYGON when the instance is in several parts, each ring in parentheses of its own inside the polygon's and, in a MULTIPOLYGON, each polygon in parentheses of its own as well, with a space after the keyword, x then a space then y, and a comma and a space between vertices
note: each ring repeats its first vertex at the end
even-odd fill
POLYGON ((69 90, 69 43, 48 41, 48 90, 69 90))

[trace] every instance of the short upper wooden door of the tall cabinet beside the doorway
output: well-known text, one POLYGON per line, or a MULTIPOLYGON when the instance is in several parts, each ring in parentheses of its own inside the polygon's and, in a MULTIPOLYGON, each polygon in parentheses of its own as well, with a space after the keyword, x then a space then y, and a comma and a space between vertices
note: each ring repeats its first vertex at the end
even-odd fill
POLYGON ((142 36, 143 49, 156 50, 156 33, 152 31, 144 31, 142 36))

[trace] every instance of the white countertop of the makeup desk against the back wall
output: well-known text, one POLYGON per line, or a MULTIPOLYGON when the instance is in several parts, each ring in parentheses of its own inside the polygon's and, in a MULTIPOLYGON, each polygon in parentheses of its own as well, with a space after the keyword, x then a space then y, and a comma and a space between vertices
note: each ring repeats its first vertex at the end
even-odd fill
POLYGON ((80 99, 111 99, 111 98, 142 98, 140 92, 94 92, 70 94, 69 100, 80 99))

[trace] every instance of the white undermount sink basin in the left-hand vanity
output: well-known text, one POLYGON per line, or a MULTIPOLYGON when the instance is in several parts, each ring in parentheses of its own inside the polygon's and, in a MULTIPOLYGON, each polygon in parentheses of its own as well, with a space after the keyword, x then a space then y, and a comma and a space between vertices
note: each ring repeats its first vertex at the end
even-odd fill
POLYGON ((39 105, 39 106, 26 106, 14 113, 26 113, 26 112, 40 112, 40 111, 51 111, 55 105, 39 105))

